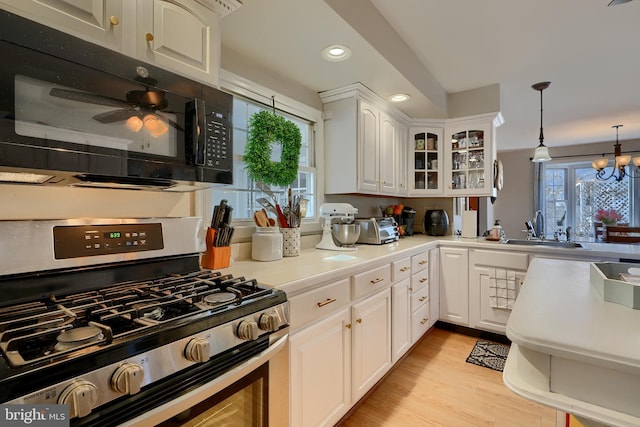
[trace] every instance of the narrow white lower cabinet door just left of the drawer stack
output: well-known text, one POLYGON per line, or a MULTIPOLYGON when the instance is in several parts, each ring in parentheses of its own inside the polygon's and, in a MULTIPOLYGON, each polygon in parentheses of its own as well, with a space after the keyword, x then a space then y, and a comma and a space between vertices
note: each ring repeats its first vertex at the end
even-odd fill
POLYGON ((411 347, 410 279, 391 288, 391 361, 395 363, 411 347))

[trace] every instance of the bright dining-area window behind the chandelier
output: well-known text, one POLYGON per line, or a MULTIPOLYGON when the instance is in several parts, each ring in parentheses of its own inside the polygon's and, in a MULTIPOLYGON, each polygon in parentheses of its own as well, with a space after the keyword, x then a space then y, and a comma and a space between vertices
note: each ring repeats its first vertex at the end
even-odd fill
POLYGON ((572 228, 576 239, 593 240, 594 216, 598 209, 615 209, 622 222, 639 224, 639 183, 628 176, 622 181, 599 181, 590 162, 551 161, 543 165, 541 210, 547 237, 558 229, 572 228))

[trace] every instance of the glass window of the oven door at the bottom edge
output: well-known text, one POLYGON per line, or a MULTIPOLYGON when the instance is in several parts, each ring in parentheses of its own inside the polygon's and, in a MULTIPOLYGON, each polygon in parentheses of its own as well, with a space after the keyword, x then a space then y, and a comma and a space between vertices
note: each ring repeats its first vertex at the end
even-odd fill
POLYGON ((167 420, 162 427, 263 427, 268 425, 266 363, 225 390, 167 420))

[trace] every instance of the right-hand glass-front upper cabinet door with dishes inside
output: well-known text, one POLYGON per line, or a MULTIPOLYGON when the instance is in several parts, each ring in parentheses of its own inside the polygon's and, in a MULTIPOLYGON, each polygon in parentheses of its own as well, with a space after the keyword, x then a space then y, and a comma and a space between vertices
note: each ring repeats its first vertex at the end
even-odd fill
POLYGON ((495 115, 447 122, 445 194, 495 196, 495 126, 495 115))

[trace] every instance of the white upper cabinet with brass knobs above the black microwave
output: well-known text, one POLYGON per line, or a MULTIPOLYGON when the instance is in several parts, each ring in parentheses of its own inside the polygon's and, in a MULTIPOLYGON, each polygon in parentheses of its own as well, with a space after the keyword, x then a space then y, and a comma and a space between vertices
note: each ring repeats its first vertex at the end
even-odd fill
POLYGON ((237 0, 0 0, 0 7, 209 86, 219 85, 220 17, 237 0))

